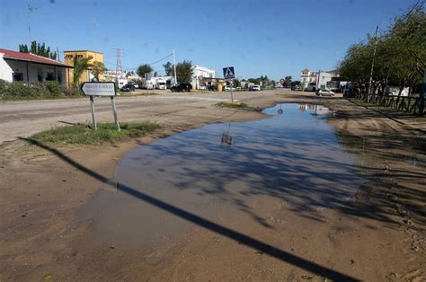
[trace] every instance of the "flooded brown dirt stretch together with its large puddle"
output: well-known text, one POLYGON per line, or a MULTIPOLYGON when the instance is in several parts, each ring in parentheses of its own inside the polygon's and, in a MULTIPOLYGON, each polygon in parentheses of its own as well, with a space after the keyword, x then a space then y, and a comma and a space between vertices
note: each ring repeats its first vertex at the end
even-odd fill
POLYGON ((245 102, 267 116, 200 109, 136 142, 6 146, 0 280, 422 281, 424 137, 340 99, 245 102))

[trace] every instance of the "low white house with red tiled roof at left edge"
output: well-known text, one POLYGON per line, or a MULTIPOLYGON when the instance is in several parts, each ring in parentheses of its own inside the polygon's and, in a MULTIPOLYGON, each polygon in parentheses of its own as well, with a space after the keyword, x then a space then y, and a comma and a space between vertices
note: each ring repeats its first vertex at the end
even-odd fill
POLYGON ((73 66, 49 57, 0 48, 0 79, 7 82, 42 83, 58 81, 66 86, 73 66))

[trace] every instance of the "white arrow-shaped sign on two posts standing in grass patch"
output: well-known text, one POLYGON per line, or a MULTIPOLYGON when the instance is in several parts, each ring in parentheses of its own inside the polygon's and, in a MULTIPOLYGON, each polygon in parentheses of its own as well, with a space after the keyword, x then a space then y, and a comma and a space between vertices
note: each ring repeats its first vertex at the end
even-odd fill
POLYGON ((96 125, 96 115, 94 112, 94 99, 93 97, 96 96, 107 96, 111 97, 111 104, 112 104, 112 113, 114 114, 114 120, 115 120, 115 127, 117 130, 121 131, 120 129, 120 123, 119 123, 119 116, 117 115, 117 109, 115 107, 115 101, 114 97, 117 95, 115 93, 115 84, 114 83, 84 83, 81 86, 81 90, 83 91, 84 95, 90 97, 90 107, 92 110, 92 120, 93 120, 93 129, 97 129, 96 125))

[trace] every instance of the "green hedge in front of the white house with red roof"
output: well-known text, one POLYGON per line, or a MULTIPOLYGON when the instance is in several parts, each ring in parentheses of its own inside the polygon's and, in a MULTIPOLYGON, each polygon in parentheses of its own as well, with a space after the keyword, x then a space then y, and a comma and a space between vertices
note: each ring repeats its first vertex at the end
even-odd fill
POLYGON ((78 91, 63 89, 56 81, 39 84, 9 83, 0 79, 0 101, 81 98, 78 91))

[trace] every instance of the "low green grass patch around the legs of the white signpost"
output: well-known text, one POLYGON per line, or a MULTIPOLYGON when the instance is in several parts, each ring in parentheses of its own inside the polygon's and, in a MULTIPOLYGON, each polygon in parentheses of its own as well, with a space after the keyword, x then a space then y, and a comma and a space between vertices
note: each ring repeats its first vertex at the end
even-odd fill
POLYGON ((40 143, 50 144, 102 144, 112 143, 122 137, 139 137, 160 126, 151 121, 120 123, 121 131, 117 131, 114 123, 98 123, 98 129, 93 130, 89 125, 78 124, 52 128, 31 137, 40 143))

